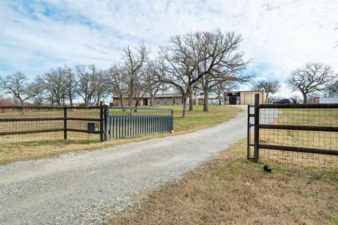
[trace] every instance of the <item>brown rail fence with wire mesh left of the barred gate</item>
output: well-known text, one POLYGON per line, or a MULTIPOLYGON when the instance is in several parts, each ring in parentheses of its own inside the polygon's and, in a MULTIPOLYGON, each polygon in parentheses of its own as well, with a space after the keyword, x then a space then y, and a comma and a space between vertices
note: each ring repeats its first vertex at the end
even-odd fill
POLYGON ((100 140, 100 107, 0 106, 0 143, 100 140), (88 129, 96 124, 96 129, 88 129))

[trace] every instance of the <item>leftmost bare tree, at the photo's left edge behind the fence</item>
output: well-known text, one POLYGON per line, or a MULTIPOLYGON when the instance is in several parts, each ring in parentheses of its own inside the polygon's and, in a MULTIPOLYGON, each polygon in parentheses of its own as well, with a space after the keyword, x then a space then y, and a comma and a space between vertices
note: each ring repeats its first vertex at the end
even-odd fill
MULTIPOLYGON (((6 77, 0 77, 0 87, 5 94, 11 94, 23 105, 30 98, 28 87, 28 78, 22 72, 15 72, 6 77)), ((24 110, 22 111, 24 113, 24 110)))

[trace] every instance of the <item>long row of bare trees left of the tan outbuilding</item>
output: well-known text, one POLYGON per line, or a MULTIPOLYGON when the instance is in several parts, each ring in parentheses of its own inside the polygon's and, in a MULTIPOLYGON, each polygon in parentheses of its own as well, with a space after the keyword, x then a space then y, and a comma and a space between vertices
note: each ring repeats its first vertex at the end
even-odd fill
POLYGON ((189 32, 175 35, 167 46, 160 46, 158 56, 150 58, 150 49, 139 44, 127 46, 122 62, 113 63, 107 70, 92 65, 58 67, 28 79, 22 72, 0 78, 0 87, 21 105, 34 101, 36 105, 65 105, 81 98, 83 105, 99 103, 107 96, 117 96, 120 104, 139 105, 146 94, 150 104, 159 91, 177 91, 182 94, 182 116, 193 110, 193 93, 204 93, 204 111, 208 111, 208 95, 218 94, 236 84, 251 81, 245 75, 247 61, 239 51, 242 37, 234 32, 189 32), (190 102, 188 102, 190 101, 190 102))

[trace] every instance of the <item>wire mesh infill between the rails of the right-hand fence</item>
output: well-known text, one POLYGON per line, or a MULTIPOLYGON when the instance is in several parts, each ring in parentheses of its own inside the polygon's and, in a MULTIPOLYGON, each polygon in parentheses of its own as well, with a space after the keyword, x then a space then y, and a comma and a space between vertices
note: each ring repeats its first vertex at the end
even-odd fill
MULTIPOLYGON (((295 125, 309 127, 338 127, 338 108, 260 108, 261 124, 295 125)), ((292 129, 260 129, 260 144, 292 146, 323 150, 338 150, 338 132, 292 129)), ((263 162, 282 165, 338 170, 337 155, 299 153, 260 148, 263 162)))

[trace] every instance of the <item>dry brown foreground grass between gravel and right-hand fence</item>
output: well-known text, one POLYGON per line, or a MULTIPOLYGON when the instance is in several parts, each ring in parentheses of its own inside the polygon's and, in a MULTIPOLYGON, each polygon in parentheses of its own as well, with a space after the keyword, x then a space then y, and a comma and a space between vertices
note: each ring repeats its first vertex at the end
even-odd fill
POLYGON ((338 224, 337 172, 263 165, 242 141, 107 224, 338 224))

